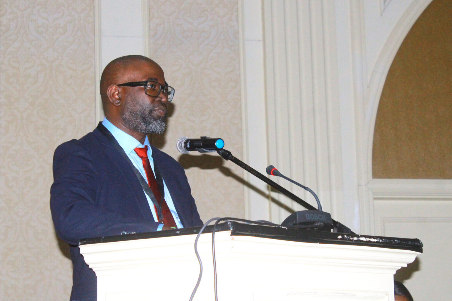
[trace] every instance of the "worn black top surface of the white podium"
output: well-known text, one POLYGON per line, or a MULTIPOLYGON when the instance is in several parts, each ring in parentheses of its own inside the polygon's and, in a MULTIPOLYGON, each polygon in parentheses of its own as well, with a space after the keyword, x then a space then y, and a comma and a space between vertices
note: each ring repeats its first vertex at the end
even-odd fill
MULTIPOLYGON (((201 227, 191 227, 167 231, 87 238, 80 240, 79 245, 198 234, 200 229, 201 227)), ((212 233, 212 229, 213 226, 207 226, 203 233, 212 233)), ((422 242, 417 238, 410 239, 386 236, 368 236, 357 234, 333 233, 317 230, 288 228, 282 226, 273 227, 273 226, 250 225, 239 222, 220 223, 216 226, 215 232, 220 231, 231 231, 231 236, 232 235, 255 236, 279 239, 283 241, 299 241, 320 244, 363 245, 388 249, 410 250, 420 253, 422 253, 423 247, 422 242)))

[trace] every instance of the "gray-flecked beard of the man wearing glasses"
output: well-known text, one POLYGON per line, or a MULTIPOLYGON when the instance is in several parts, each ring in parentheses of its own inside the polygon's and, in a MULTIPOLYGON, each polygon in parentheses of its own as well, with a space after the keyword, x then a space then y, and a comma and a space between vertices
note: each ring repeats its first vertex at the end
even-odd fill
MULTIPOLYGON (((126 102, 127 103, 127 102, 126 102)), ((151 111, 126 105, 121 113, 122 120, 131 130, 145 134, 163 134, 166 128, 166 116, 154 119, 151 111)))

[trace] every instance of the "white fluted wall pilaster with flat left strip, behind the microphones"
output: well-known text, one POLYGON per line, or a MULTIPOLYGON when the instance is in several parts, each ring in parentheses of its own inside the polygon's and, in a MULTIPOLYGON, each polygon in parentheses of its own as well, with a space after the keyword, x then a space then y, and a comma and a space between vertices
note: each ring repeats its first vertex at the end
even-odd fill
MULTIPOLYGON (((277 166, 314 189, 325 210, 342 218, 334 5, 329 1, 240 1, 239 9, 246 16, 240 17, 244 158, 259 171, 268 164, 277 166), (264 116, 259 116, 262 110, 264 116)), ((245 178, 254 186, 245 188, 248 218, 281 222, 289 212, 279 204, 303 209, 280 194, 271 194, 279 204, 272 202, 267 185, 252 176, 245 178)), ((282 179, 273 180, 315 205, 306 191, 282 179)))

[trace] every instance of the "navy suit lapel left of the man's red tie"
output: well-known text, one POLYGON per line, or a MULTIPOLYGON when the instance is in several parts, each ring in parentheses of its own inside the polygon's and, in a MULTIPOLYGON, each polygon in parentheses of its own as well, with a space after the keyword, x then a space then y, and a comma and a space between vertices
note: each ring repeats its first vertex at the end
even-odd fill
POLYGON ((102 150, 107 155, 107 157, 112 161, 119 172, 121 173, 123 180, 130 187, 132 194, 135 196, 135 200, 140 208, 141 214, 147 220, 154 220, 152 216, 151 208, 149 208, 149 203, 147 202, 146 196, 141 188, 140 182, 138 182, 137 175, 133 172, 130 164, 122 157, 120 153, 114 148, 110 141, 102 134, 99 130, 95 129, 93 131, 94 135, 99 140, 102 150))

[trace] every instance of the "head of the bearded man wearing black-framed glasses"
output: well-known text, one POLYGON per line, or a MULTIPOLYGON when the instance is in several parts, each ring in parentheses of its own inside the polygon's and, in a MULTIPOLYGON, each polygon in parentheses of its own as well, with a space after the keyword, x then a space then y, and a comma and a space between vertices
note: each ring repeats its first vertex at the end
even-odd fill
POLYGON ((144 141, 145 134, 164 132, 174 88, 168 86, 155 61, 146 56, 122 56, 105 67, 100 96, 108 121, 144 141))

